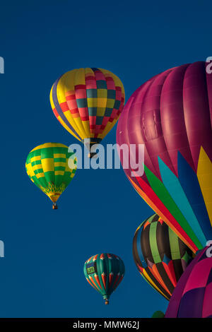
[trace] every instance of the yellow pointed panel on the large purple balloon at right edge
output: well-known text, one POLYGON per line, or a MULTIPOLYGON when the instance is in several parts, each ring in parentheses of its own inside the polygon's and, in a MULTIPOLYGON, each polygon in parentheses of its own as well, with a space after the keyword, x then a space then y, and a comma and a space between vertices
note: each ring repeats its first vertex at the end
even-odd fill
POLYGON ((199 153, 196 175, 199 179, 199 185, 204 196, 208 217, 212 226, 212 162, 202 147, 199 153))

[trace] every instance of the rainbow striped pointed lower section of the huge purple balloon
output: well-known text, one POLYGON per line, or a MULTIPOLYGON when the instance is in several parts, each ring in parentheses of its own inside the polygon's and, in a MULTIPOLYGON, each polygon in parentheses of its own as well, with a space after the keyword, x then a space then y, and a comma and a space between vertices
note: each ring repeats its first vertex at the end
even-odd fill
MULTIPOLYGON (((141 177, 129 181, 141 197, 154 209, 187 246, 196 252, 212 239, 212 164, 201 148, 197 172, 178 153, 176 176, 158 158, 160 179, 144 166, 148 183, 141 177)), ((136 172, 135 172, 136 175, 136 172)))

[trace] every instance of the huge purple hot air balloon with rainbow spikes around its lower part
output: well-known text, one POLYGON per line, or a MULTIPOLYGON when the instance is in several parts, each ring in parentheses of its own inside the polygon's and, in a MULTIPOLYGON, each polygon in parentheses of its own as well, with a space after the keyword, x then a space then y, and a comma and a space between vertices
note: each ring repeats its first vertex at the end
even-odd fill
MULTIPOLYGON (((194 251, 212 238, 212 75, 204 62, 154 76, 129 98, 117 126, 117 143, 131 184, 194 251), (143 174, 136 165, 144 145, 143 174), (132 151, 132 149, 131 149, 132 151)), ((140 158, 141 159, 141 158, 140 158)))

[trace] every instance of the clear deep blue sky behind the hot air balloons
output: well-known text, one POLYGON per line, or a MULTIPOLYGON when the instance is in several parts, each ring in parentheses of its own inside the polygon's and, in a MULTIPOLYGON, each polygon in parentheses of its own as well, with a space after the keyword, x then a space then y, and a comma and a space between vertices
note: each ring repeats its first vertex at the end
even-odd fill
MULTIPOLYGON (((52 211, 25 158, 76 143, 49 104, 52 83, 81 67, 121 78, 126 100, 151 76, 211 56, 208 1, 10 1, 1 4, 1 317, 150 317, 167 301, 139 275, 134 232, 153 213, 123 170, 78 170, 52 211), (126 275, 105 306, 83 263, 112 252, 126 275)), ((115 143, 116 127, 104 144, 115 143)))

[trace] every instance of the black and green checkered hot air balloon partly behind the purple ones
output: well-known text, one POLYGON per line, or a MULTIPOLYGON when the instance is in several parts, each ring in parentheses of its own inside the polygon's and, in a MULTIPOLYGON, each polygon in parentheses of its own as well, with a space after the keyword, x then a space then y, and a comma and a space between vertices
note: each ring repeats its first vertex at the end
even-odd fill
POLYGON ((192 261, 192 250, 157 214, 151 215, 137 228, 133 255, 143 278, 167 300, 192 261))

